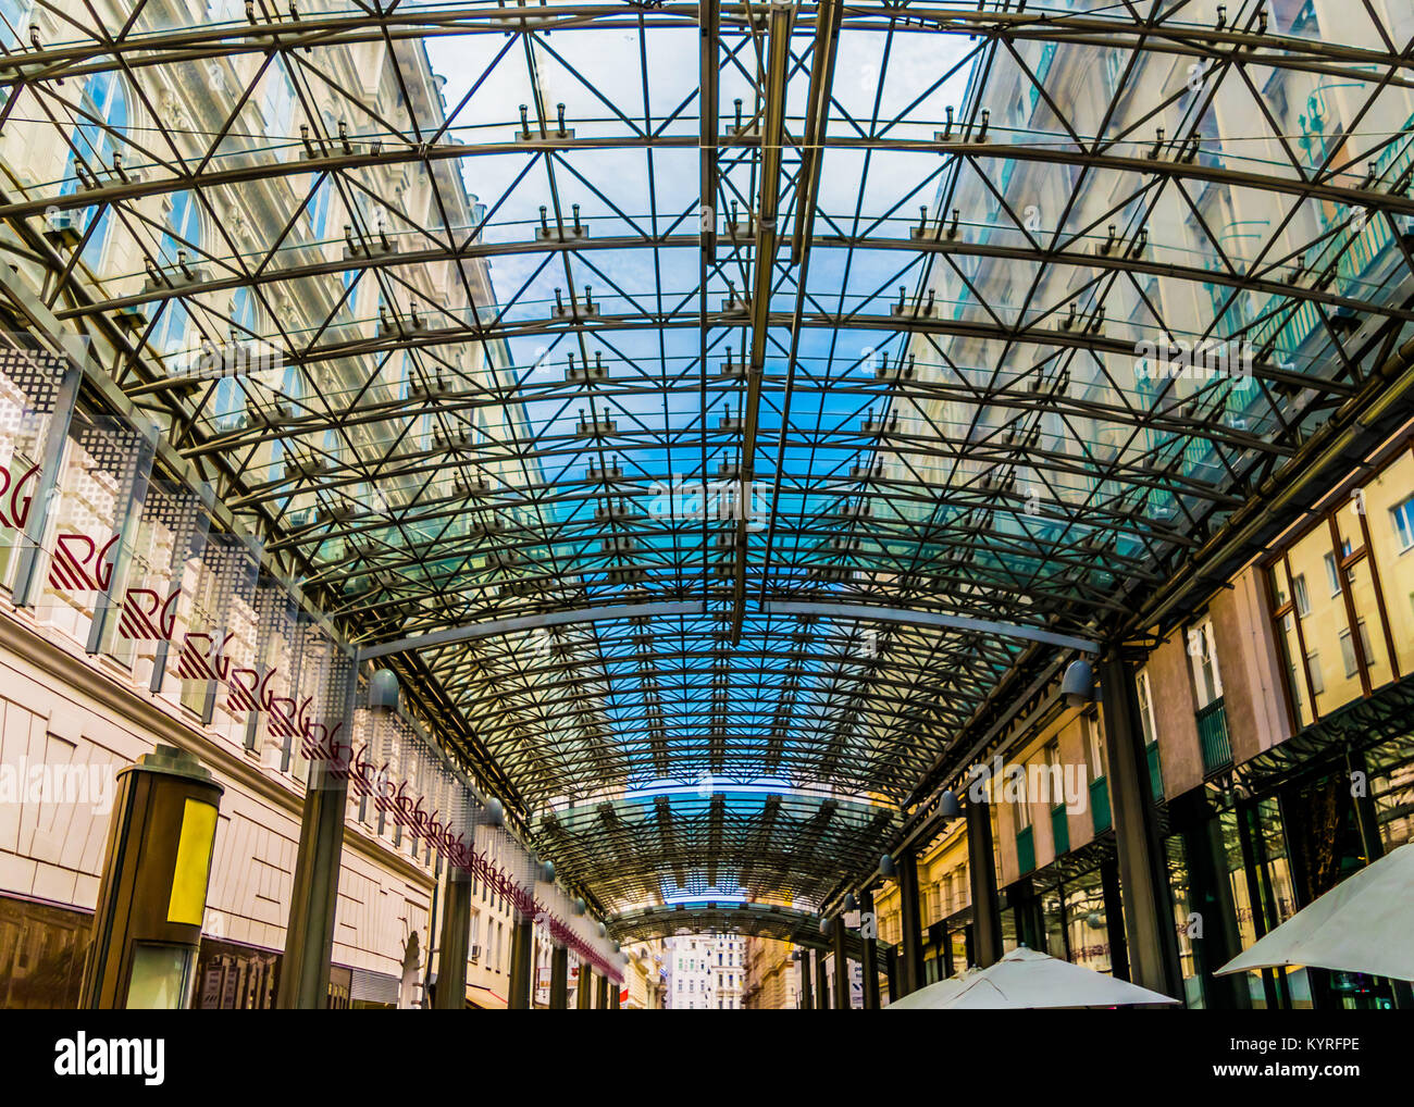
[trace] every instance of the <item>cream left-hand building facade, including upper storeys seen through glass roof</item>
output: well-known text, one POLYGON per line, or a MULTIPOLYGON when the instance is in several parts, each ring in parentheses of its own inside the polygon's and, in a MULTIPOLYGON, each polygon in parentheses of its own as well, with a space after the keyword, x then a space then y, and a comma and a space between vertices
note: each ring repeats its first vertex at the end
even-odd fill
MULTIPOLYGON (((189 18, 199 24, 206 4, 197 7, 201 11, 192 8, 189 18)), ((112 25, 126 18, 116 7, 103 11, 112 25)), ((236 7, 230 11, 232 17, 239 14, 236 7)), ((57 35, 51 13, 35 10, 28 18, 38 35, 57 35)), ((420 42, 331 49, 322 54, 321 64, 334 79, 359 89, 376 110, 413 112, 434 126, 444 117, 440 82, 420 42), (396 66, 389 51, 396 51, 396 66)), ((192 62, 160 76, 148 74, 147 79, 160 88, 147 85, 141 95, 113 71, 98 74, 72 89, 75 123, 68 148, 44 141, 37 124, 20 122, 28 115, 20 110, 14 126, 0 136, 0 160, 11 168, 17 189, 54 181, 65 182, 68 191, 82 189, 95 184, 85 165, 122 170, 115 160, 119 140, 150 130, 153 113, 160 113, 173 133, 189 136, 192 146, 181 151, 184 157, 199 157, 197 136, 222 129, 259 66, 252 57, 192 62)), ((492 303, 486 264, 409 267, 396 293, 393 284, 351 269, 283 284, 242 283, 235 290, 180 300, 167 295, 171 281, 161 273, 181 270, 198 284, 219 283, 212 281, 214 274, 247 264, 260 242, 281 242, 281 259, 311 264, 356 260, 358 249, 349 246, 355 230, 382 236, 386 249, 396 252, 414 226, 472 226, 474 199, 460 172, 447 165, 431 171, 372 168, 366 192, 335 188, 332 178, 318 174, 314 158, 328 143, 338 141, 341 117, 335 113, 342 112, 327 95, 310 99, 301 78, 277 61, 256 83, 239 113, 230 148, 222 156, 239 161, 271 143, 294 148, 301 143, 303 123, 308 172, 240 189, 164 192, 133 201, 122 211, 109 208, 98 215, 96 208, 81 209, 54 216, 47 225, 54 240, 76 246, 75 281, 83 294, 96 301, 140 301, 126 320, 154 382, 150 392, 212 389, 215 403, 192 433, 222 444, 222 450, 242 450, 239 443, 247 441, 249 464, 263 469, 273 488, 290 486, 288 495, 273 502, 274 509, 286 520, 324 526, 334 520, 317 517, 310 485, 297 488, 301 476, 321 471, 321 451, 334 457, 349 450, 386 448, 376 443, 376 427, 348 428, 342 438, 327 435, 298 457, 283 452, 274 438, 257 441, 263 437, 260 428, 270 420, 298 418, 315 397, 346 393, 359 380, 372 379, 376 383, 370 387, 383 390, 387 399, 406 397, 416 385, 411 363, 406 353, 397 355, 397 363, 376 368, 352 359, 284 363, 279 352, 252 353, 260 345, 256 336, 276 332, 296 346, 300 335, 322 327, 373 335, 389 325, 395 311, 426 312, 430 304, 455 311, 471 303, 492 303), (436 189, 430 174, 436 174, 436 189), (375 199, 395 195, 396 211, 375 199), (132 218, 133 212, 140 218, 132 218), (202 361, 212 351, 225 353, 229 348, 238 351, 239 363, 229 356, 218 358, 215 368, 202 361)), ((27 271, 17 279, 38 280, 27 271)), ((102 335, 93 338, 92 352, 105 361, 119 356, 103 346, 102 335)), ((471 344, 465 355, 469 372, 502 358, 499 349, 471 344)), ((0 373, 0 461, 16 476, 30 462, 21 413, 33 407, 34 397, 27 397, 24 387, 13 369, 0 373)), ((105 451, 113 452, 119 440, 103 437, 102 427, 95 426, 68 455, 52 526, 78 533, 117 527, 120 481, 105 451)), ((413 427, 414 440, 426 441, 433 433, 430 426, 413 427)), ((386 509, 403 495, 406 491, 396 485, 376 493, 349 489, 349 510, 386 509)), ((89 639, 96 597, 74 587, 72 578, 51 571, 38 597, 17 607, 11 590, 28 537, 16 522, 6 513, 0 534, 0 765, 17 780, 33 773, 30 779, 41 786, 55 773, 79 772, 81 766, 106 775, 110 783, 113 772, 157 742, 188 749, 209 765, 226 790, 192 1004, 270 1007, 284 947, 307 762, 269 717, 253 718, 236 697, 212 697, 206 680, 175 670, 164 673, 175 657, 168 659, 156 642, 124 642, 119 636, 95 650, 89 639)), ((173 529, 154 525, 143 530, 141 540, 147 546, 134 550, 139 567, 171 560, 173 529)), ((208 614, 204 604, 211 599, 205 592, 195 595, 206 587, 199 567, 188 566, 181 584, 184 595, 174 612, 177 636, 199 625, 208 614)), ((256 664, 259 612, 252 602, 238 599, 229 621, 233 631, 225 653, 235 664, 256 664)), ((0 1007, 72 1007, 76 1001, 106 833, 102 796, 83 795, 69 802, 58 793, 17 793, 0 802, 0 1007)), ((329 1005, 426 1004, 437 976, 438 936, 431 906, 434 889, 445 881, 445 865, 356 796, 349 800, 342 864, 329 1005)), ((467 1002, 505 1007, 510 908, 482 882, 474 884, 467 1002)))

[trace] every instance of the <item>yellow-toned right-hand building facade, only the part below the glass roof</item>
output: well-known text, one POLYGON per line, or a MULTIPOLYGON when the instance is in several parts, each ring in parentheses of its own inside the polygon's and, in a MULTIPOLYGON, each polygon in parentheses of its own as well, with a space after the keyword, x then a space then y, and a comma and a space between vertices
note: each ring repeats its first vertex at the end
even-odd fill
MULTIPOLYGON (((1133 667, 1191 1007, 1394 1000, 1357 974, 1213 970, 1414 837, 1411 435, 1326 489, 1133 667)), ((1004 946, 1127 973, 1103 708, 1052 687, 1038 714, 1003 744, 1015 787, 988 804, 1004 946)), ((966 844, 957 819, 916 855, 926 980, 974 963, 966 844)), ((896 882, 877 908, 882 940, 901 943, 896 882)))

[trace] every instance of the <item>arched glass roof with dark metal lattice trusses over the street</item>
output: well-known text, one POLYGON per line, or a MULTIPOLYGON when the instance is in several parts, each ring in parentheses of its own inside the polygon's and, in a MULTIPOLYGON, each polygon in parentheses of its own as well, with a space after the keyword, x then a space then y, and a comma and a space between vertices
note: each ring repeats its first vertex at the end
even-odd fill
POLYGON ((0 8, 13 263, 617 910, 867 871, 1414 320, 1393 0, 0 8))

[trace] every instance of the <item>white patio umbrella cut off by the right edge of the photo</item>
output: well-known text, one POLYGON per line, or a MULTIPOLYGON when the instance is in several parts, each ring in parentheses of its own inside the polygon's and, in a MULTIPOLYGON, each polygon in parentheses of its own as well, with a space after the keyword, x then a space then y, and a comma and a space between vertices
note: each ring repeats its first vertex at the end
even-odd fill
POLYGON ((1217 976, 1277 966, 1414 980, 1414 843, 1340 881, 1217 976))

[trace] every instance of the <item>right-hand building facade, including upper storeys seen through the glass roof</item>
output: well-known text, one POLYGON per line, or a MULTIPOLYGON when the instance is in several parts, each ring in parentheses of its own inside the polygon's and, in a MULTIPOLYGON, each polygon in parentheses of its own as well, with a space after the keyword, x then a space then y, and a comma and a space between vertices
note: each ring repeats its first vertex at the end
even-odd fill
MULTIPOLYGON (((1342 11, 1339 4, 1292 0, 1274 6, 1271 18, 1281 33, 1309 37, 1338 25, 1342 11)), ((1390 25, 1410 28, 1407 11, 1391 4, 1381 11, 1390 25)), ((1010 93, 1000 76, 1008 72, 1005 66, 990 75, 991 123, 1048 130, 1065 119, 1082 133, 1100 130, 1123 83, 1113 65, 1118 55, 1056 44, 1024 49, 1025 69, 1012 66, 1010 93), (1027 71, 1045 82, 1046 96, 1038 95, 1027 71)), ((1135 65, 1148 66, 1150 78, 1165 88, 1175 83, 1174 66, 1182 68, 1157 57, 1138 58, 1135 65)), ((1164 134, 1186 133, 1206 92, 1203 74, 1191 74, 1188 92, 1165 117, 1147 117, 1144 133, 1162 127, 1159 143, 1164 134)), ((1340 148, 1343 126, 1359 110, 1346 95, 1345 88, 1291 71, 1270 74, 1261 89, 1274 131, 1295 136, 1292 150, 1302 165, 1331 161, 1340 148)), ((1134 110, 1121 96, 1110 126, 1137 127, 1134 110)), ((1408 140, 1414 99, 1393 96, 1379 110, 1384 113, 1381 133, 1401 137, 1369 164, 1360 163, 1359 172, 1398 175, 1414 157, 1408 140)), ((1232 85, 1196 113, 1202 124, 1189 153, 1199 164, 1217 168, 1266 156, 1263 143, 1251 140, 1250 100, 1232 85)), ((1278 147, 1275 137, 1266 143, 1267 153, 1278 147)), ((1123 249, 1176 264, 1196 262, 1213 273, 1229 263, 1239 270, 1250 266, 1256 243, 1266 245, 1270 221, 1257 211, 1266 198, 1215 187, 1121 202, 1092 184, 1085 174, 1072 172, 1066 181, 1048 167, 1018 161, 1003 174, 1000 192, 963 181, 950 202, 962 209, 963 225, 970 221, 973 236, 1004 236, 1018 230, 1017 223, 1042 238, 1085 228, 1079 232, 1083 249, 1096 256, 1123 249)), ((1329 269, 1338 288, 1379 284, 1391 274, 1398 279, 1408 232, 1401 236, 1391 222, 1350 216, 1339 205, 1301 205, 1284 225, 1275 253, 1290 249, 1294 264, 1329 269), (1319 232, 1328 235, 1325 245, 1305 249, 1319 232)), ((945 270, 933 286, 939 311, 964 318, 976 310, 964 290, 980 288, 993 305, 1025 300, 1036 310, 1058 304, 1058 315, 1069 310, 1076 325, 1104 334, 1103 315, 1085 315, 1079 286, 1058 283, 1076 280, 1073 269, 1025 270, 983 257, 963 257, 959 266, 964 283, 945 270)), ((1312 363, 1314 351, 1328 338, 1314 305, 1273 314, 1261 293, 1216 277, 1162 290, 1157 277, 1128 281, 1107 293, 1106 310, 1110 318, 1148 328, 1154 348, 1178 349, 1178 339, 1193 346, 1236 341, 1285 365, 1312 363)), ((905 427, 909 420, 970 423, 969 440, 994 441, 995 464, 959 471, 947 462, 936 479, 981 492, 984 499, 990 495, 994 506, 976 509, 971 522, 1012 527, 1018 540, 1038 549, 1055 534, 1058 513, 1051 506, 1086 498, 1124 502, 1135 481, 1143 481, 1134 474, 1141 474, 1150 457, 1181 450, 1184 469, 1195 478, 1223 464, 1223 447, 1198 437, 1174 440, 1147 418, 1116 437, 1113 420, 1087 416, 1087 404, 1131 404, 1137 397, 1155 414, 1203 410, 1239 437, 1270 418, 1263 390, 1243 372, 1240 351, 1226 363, 1210 361, 1193 370, 1189 362, 1188 369, 1155 372, 1152 349, 1143 344, 1133 356, 1087 351, 1039 366, 1019 361, 1025 353, 1019 345, 1003 365, 984 363, 984 349, 986 344, 969 348, 954 339, 940 361, 935 344, 916 338, 913 373, 953 383, 1014 375, 1028 392, 1051 400, 1038 409, 1017 403, 980 411, 962 402, 915 403, 904 406, 899 418, 905 427), (973 363, 970 355, 976 355, 973 363), (1066 485, 1028 467, 1036 452, 1100 457, 1113 479, 1066 485), (1025 510, 1005 506, 1015 503, 1025 510)), ((1352 974, 1297 970, 1232 980, 1213 970, 1342 877, 1410 840, 1410 434, 1406 426, 1367 455, 1350 458, 1342 472, 1305 488, 1307 522, 1271 534, 1260 553, 1213 581, 1202 602, 1189 604, 1181 618, 1150 628, 1145 640, 1126 643, 1130 674, 1123 696, 1133 697, 1148 754, 1150 800, 1172 915, 1168 940, 1191 1007, 1386 1007, 1393 1001, 1389 981, 1352 974)), ((896 454, 889 464, 926 462, 896 454)), ((1127 509, 1161 529, 1184 517, 1179 502, 1157 489, 1127 509)), ((1092 553, 1123 564, 1133 550, 1097 533, 1092 553)), ((1012 722, 988 749, 988 758, 1000 761, 987 762, 997 771, 995 783, 1015 779, 1014 786, 998 787, 987 806, 1004 946, 1025 944, 1099 971, 1127 974, 1104 710, 1099 701, 1068 705, 1059 679, 1027 707, 1019 713, 1024 725, 1012 722)), ((976 963, 977 922, 966 820, 937 821, 915 843, 908 861, 916 865, 919 881, 923 980, 962 971, 976 963)), ((887 882, 875 903, 881 939, 904 942, 898 882, 887 882)))

